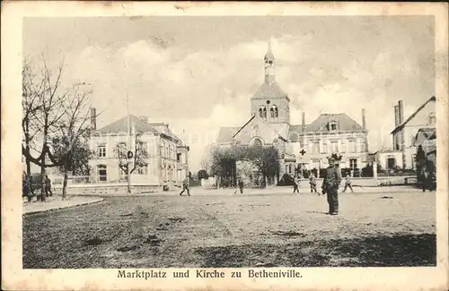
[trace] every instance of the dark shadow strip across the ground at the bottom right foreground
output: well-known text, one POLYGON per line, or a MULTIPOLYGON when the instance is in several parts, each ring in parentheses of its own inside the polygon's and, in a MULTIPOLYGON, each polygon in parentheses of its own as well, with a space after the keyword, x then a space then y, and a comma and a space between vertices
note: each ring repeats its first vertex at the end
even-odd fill
POLYGON ((202 267, 436 266, 436 235, 392 235, 295 244, 197 248, 202 267))

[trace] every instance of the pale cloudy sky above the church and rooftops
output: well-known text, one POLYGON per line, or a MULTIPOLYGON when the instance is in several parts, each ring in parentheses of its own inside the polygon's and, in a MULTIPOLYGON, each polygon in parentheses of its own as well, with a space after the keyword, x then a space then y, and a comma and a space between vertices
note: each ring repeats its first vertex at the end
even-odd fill
MULTIPOLYGON (((191 146, 198 170, 220 126, 250 117, 271 38, 277 82, 290 96, 291 122, 366 109, 370 150, 390 147, 393 106, 405 115, 435 94, 434 18, 109 17, 28 18, 23 53, 65 60, 64 83, 92 84, 101 127, 130 113, 167 122, 191 146)), ((38 64, 38 63, 36 63, 38 64)))

